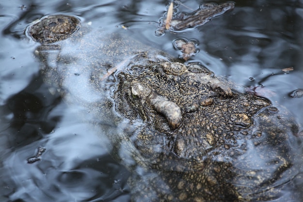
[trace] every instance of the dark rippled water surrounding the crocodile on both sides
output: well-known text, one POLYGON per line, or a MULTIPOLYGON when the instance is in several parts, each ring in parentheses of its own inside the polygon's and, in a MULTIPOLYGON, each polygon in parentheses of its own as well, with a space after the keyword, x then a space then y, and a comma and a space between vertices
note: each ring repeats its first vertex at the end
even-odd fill
MULTIPOLYGON (((202 1, 184 0, 177 9, 191 12, 202 1)), ((216 1, 224 2, 224 1, 216 1)), ((286 106, 303 124, 303 2, 239 0, 233 11, 185 32, 155 36, 167 1, 0 1, 0 201, 97 202, 130 200, 129 172, 106 151, 91 125, 77 117, 76 106, 50 93, 39 74, 37 44, 24 30, 42 16, 68 13, 108 31, 127 27, 139 41, 178 57, 172 41, 198 41, 191 60, 216 75, 249 86, 286 106), (293 67, 288 73, 281 69, 293 67), (46 150, 32 164, 39 147, 46 150)), ((299 184, 302 182, 298 182, 299 184)))

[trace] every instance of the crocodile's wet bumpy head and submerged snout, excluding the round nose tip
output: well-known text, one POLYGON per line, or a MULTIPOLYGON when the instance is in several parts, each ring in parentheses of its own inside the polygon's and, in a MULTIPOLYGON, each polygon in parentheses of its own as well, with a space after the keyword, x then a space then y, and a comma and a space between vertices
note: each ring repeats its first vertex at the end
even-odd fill
POLYGON ((80 27, 35 54, 45 82, 93 112, 133 171, 133 201, 300 199, 299 126, 283 107, 119 33, 80 27))

